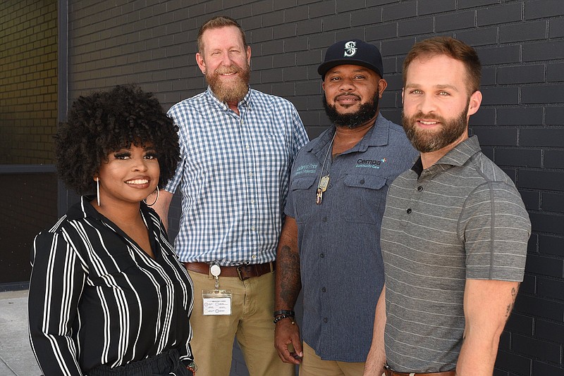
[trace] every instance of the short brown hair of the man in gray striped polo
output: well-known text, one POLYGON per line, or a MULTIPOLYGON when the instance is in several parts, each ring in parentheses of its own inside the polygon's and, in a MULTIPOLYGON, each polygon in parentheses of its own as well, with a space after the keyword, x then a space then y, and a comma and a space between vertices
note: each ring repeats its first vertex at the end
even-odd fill
POLYGON ((446 55, 461 61, 467 71, 469 94, 479 90, 480 80, 482 79, 482 63, 480 63, 478 54, 471 46, 451 37, 424 39, 412 46, 403 61, 403 86, 405 87, 407 80, 407 69, 415 58, 435 55, 446 55))

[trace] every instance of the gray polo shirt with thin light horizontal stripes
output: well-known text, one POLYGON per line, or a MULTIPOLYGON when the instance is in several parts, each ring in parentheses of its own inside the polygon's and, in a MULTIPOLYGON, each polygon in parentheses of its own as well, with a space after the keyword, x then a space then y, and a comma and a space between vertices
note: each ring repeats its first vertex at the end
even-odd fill
POLYGON ((391 185, 381 228, 386 360, 398 372, 456 367, 465 280, 522 281, 531 232, 515 184, 470 137, 391 185))

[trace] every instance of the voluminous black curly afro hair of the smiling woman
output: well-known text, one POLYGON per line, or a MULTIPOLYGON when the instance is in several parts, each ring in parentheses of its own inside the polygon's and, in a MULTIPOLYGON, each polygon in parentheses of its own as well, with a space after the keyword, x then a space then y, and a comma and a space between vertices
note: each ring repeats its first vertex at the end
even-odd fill
POLYGON ((57 172, 68 188, 90 194, 109 153, 148 144, 157 151, 162 188, 180 161, 177 131, 158 99, 134 84, 80 96, 55 135, 57 172))

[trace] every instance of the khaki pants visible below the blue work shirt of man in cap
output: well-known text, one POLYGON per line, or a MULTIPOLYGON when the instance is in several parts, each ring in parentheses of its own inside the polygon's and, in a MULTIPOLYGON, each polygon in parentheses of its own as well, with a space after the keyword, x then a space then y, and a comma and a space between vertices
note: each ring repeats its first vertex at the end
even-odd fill
POLYGON ((303 347, 304 357, 300 365, 300 376, 362 376, 364 373, 364 362, 324 361, 305 342, 303 347))

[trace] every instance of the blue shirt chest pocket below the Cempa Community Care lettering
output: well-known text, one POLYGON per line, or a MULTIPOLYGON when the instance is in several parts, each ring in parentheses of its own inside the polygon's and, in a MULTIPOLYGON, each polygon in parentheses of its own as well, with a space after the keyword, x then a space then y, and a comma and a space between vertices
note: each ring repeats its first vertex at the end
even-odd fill
POLYGON ((345 176, 346 199, 340 200, 341 213, 352 223, 375 224, 381 221, 388 192, 386 177, 350 174, 345 176))

